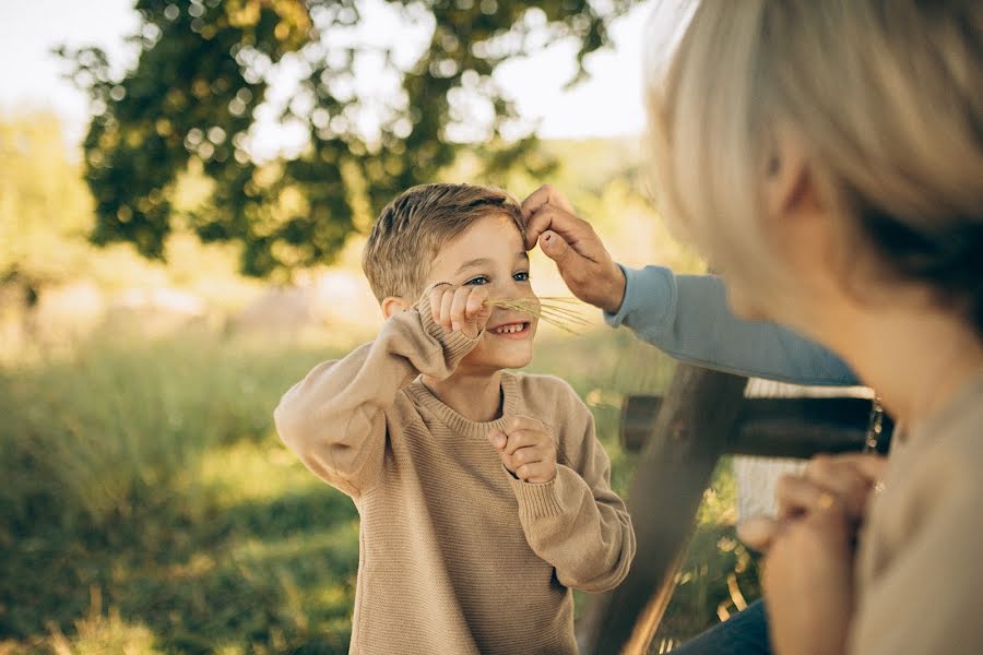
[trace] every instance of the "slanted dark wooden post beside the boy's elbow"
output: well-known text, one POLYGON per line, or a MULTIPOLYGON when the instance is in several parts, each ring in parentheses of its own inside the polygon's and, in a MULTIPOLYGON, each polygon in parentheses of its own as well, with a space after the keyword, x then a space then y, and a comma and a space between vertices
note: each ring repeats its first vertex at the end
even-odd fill
POLYGON ((638 556, 620 586, 589 602, 578 630, 584 653, 647 651, 672 597, 692 517, 734 430, 746 384, 746 378, 727 373, 676 368, 628 493, 638 556))

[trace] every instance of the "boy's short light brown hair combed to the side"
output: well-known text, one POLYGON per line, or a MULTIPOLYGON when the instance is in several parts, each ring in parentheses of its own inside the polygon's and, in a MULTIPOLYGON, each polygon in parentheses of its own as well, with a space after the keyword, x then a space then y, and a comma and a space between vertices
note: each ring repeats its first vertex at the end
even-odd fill
POLYGON ((401 193, 376 219, 362 257, 376 298, 415 299, 437 251, 476 219, 492 215, 511 218, 525 242, 519 203, 500 189, 437 183, 401 193))

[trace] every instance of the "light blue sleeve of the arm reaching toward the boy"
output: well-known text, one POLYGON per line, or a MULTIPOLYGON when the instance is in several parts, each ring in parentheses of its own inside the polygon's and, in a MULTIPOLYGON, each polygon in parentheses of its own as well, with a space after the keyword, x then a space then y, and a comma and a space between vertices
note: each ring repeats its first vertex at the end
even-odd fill
POLYGON ((861 384, 842 359, 815 342, 731 313, 719 277, 675 275, 662 266, 621 270, 625 299, 616 314, 604 312, 605 321, 627 325, 674 359, 793 384, 861 384))

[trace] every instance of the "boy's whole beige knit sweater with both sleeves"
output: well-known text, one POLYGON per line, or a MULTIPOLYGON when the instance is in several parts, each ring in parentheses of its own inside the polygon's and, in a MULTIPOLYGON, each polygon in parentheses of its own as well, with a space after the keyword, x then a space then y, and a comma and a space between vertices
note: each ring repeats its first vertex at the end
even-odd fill
POLYGON ((476 344, 429 306, 316 367, 276 408, 304 463, 362 517, 352 653, 576 653, 570 587, 627 574, 635 535, 590 412, 561 380, 504 372, 502 417, 473 422, 418 380, 476 344), (512 416, 546 424, 557 476, 513 478, 489 443, 512 416))

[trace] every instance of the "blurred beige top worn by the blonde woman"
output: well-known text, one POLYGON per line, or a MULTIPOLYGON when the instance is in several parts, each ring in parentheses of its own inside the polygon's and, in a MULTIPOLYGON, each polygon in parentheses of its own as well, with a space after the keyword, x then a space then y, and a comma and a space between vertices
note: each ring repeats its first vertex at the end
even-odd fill
MULTIPOLYGON (((899 436, 900 437, 900 436, 899 436)), ((983 376, 891 445, 861 535, 851 655, 983 653, 983 376)))

